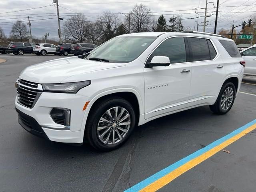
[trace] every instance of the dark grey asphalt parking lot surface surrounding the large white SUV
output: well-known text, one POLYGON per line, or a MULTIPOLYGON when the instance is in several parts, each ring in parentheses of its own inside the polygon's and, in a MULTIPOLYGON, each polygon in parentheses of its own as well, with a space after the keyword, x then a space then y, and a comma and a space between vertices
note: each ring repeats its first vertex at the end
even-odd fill
MULTIPOLYGON (((256 78, 246 77, 228 114, 203 106, 165 116, 137 127, 112 152, 44 140, 18 124, 14 82, 26 66, 63 57, 0 55, 7 60, 0 64, 0 192, 133 191, 130 187, 256 119, 256 78)), ((255 138, 256 130, 246 133, 158 191, 255 191, 255 138)))

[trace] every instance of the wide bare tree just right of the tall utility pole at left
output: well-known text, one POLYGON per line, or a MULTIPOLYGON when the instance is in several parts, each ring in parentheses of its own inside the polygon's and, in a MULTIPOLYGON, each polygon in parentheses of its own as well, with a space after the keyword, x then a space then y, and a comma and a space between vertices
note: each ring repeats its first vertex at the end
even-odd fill
POLYGON ((88 35, 88 22, 83 14, 71 16, 64 22, 63 32, 65 40, 71 42, 84 42, 88 35))

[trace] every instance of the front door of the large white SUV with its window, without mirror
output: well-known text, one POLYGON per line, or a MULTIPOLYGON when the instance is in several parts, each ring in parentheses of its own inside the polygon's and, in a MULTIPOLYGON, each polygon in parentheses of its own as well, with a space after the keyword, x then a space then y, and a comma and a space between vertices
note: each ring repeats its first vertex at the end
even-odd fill
POLYGON ((144 68, 145 119, 184 108, 191 79, 191 64, 186 60, 183 37, 168 38, 152 52, 144 68), (170 66, 147 68, 154 56, 168 56, 170 66))

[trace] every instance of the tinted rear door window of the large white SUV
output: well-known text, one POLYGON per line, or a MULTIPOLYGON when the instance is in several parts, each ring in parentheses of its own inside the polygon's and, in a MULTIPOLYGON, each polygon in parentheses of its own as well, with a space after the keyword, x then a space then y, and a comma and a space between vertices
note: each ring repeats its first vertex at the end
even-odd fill
POLYGON ((210 60, 210 52, 206 39, 189 37, 191 61, 210 60))

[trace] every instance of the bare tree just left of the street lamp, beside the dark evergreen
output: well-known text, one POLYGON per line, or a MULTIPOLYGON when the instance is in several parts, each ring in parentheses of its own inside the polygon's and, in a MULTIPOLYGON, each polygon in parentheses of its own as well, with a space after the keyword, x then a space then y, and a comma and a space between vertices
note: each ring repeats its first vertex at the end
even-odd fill
POLYGON ((102 40, 105 42, 115 36, 116 29, 118 27, 118 18, 110 11, 105 12, 98 18, 98 24, 102 31, 102 40))

